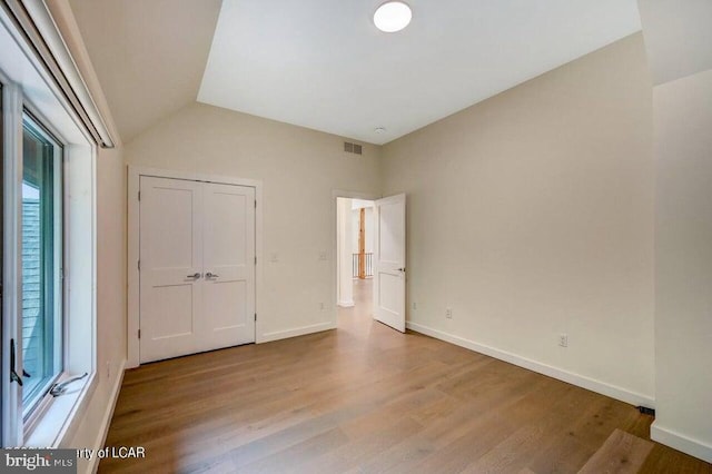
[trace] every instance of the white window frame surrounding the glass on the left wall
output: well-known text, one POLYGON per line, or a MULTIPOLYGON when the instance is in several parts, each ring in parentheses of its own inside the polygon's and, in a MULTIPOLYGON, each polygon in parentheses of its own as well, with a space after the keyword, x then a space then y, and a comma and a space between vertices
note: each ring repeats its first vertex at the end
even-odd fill
POLYGON ((2 280, 2 431, 3 447, 66 445, 98 385, 97 361, 97 142, 72 103, 55 82, 36 51, 0 8, 0 82, 3 117, 3 248, 2 280), (22 116, 29 111, 63 146, 61 162, 63 220, 62 356, 58 382, 87 374, 65 395, 43 397, 24 419, 19 385, 10 382, 9 342, 14 338, 16 369, 22 371, 21 326, 21 189, 22 116), (20 286, 20 288, 18 288, 20 286), (18 337, 20 334, 20 337, 18 337))

